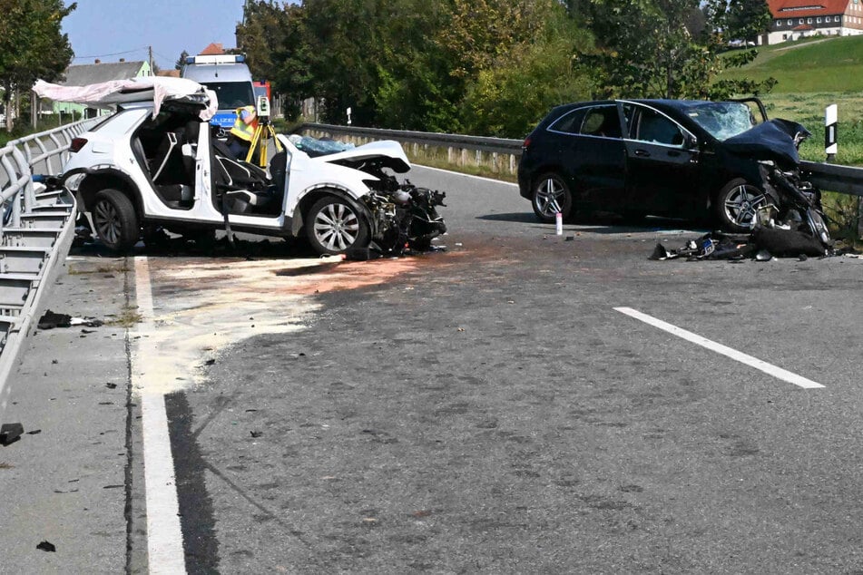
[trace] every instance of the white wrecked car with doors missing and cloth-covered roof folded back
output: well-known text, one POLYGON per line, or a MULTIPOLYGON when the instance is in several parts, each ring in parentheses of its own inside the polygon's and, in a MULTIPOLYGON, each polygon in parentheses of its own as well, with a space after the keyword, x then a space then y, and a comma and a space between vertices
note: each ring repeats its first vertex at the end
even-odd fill
POLYGON ((117 106, 74 139, 64 166, 65 185, 110 249, 130 249, 160 229, 189 238, 228 229, 305 236, 321 254, 398 251, 427 249, 446 230, 436 213, 445 194, 392 175, 410 170, 396 141, 315 151, 279 134, 282 151, 268 173, 234 160, 211 137, 215 95, 190 80, 148 77, 81 88, 40 82, 34 91, 117 106))

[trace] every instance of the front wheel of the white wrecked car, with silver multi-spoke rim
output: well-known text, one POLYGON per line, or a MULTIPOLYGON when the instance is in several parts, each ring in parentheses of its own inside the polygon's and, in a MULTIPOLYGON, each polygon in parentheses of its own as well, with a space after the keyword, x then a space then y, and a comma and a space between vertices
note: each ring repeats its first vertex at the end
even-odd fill
POLYGON ((368 247, 368 224, 357 209, 336 196, 316 201, 306 215, 306 237, 319 254, 343 254, 368 247))

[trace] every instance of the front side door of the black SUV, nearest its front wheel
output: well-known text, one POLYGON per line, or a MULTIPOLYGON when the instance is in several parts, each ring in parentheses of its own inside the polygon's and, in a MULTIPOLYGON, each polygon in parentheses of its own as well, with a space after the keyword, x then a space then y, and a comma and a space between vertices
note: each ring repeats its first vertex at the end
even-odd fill
POLYGON ((678 122, 652 107, 623 103, 626 142, 626 210, 689 217, 698 206, 699 152, 678 122))

